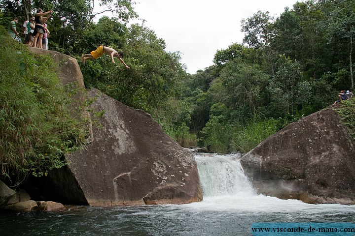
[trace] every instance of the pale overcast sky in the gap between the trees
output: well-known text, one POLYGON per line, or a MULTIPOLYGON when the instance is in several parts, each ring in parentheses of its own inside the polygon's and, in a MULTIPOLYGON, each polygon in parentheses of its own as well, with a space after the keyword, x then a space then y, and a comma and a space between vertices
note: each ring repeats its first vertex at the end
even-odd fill
MULTIPOLYGON (((258 10, 278 17, 297 0, 136 0, 145 26, 166 42, 166 51, 180 52, 187 72, 213 65, 217 50, 242 43, 241 20, 258 10)), ((301 1, 301 0, 298 0, 301 1)))

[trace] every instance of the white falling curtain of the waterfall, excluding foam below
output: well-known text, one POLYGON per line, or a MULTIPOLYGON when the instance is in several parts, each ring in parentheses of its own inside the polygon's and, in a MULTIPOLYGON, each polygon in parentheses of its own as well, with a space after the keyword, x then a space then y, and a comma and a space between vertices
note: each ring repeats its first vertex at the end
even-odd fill
POLYGON ((240 154, 195 155, 204 197, 255 195, 240 157, 240 154))

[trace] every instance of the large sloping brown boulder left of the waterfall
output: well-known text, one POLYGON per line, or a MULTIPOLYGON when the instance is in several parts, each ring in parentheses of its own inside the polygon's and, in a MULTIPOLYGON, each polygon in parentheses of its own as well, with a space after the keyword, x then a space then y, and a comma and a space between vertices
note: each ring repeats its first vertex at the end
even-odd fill
POLYGON ((90 97, 96 95, 93 108, 105 110, 100 118, 103 127, 93 127, 94 141, 67 156, 66 168, 77 184, 62 181, 57 175, 53 181, 60 192, 80 196, 79 201, 85 199, 96 206, 201 201, 197 165, 191 152, 165 134, 147 113, 97 89, 89 92, 90 97))

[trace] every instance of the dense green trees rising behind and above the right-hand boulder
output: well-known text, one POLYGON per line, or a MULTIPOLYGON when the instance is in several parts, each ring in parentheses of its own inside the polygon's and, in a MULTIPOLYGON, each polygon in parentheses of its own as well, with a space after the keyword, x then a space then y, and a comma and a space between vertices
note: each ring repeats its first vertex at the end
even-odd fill
POLYGON ((296 2, 276 19, 258 11, 241 22, 214 65, 184 80, 190 128, 213 151, 247 152, 286 124, 354 89, 355 2, 296 2))

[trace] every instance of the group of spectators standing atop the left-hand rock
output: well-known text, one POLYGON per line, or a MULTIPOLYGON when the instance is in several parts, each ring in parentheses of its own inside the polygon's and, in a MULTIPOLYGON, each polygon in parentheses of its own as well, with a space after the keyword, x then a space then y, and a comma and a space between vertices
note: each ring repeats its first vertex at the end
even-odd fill
MULTIPOLYGON (((22 25, 25 44, 30 47, 48 50, 50 31, 48 30, 47 20, 50 18, 52 12, 53 10, 43 12, 43 10, 39 8, 34 16, 31 16, 30 19, 27 18, 22 25)), ((8 32, 13 39, 21 42, 19 33, 16 30, 17 23, 18 18, 15 17, 9 24, 8 32)))

